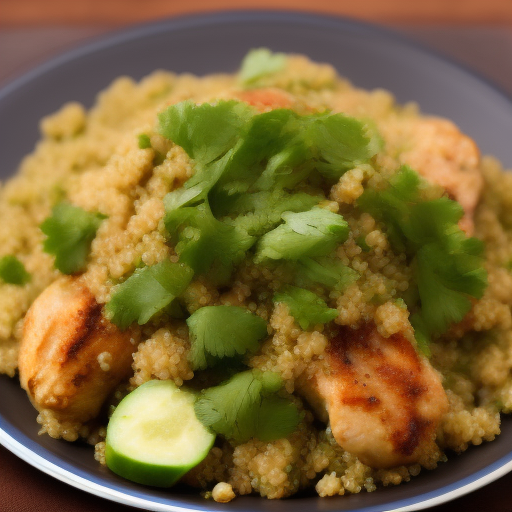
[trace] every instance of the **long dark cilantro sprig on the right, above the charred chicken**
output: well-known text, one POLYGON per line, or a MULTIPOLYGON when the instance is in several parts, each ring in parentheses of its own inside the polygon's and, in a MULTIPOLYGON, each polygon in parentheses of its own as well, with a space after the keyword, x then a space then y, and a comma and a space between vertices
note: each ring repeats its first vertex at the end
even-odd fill
POLYGON ((482 297, 487 273, 482 242, 458 227, 460 204, 446 197, 423 200, 421 187, 418 174, 404 166, 385 190, 367 189, 358 206, 384 224, 396 250, 408 254, 419 297, 408 306, 425 340, 464 318, 471 298, 482 297))

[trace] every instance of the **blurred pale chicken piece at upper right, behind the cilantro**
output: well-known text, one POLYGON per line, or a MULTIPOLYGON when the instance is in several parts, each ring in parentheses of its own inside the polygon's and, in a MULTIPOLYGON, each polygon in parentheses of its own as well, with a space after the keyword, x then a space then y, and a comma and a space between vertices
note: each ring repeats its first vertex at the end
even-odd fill
POLYGON ((406 133, 411 149, 402 152, 400 160, 460 203, 464 216, 459 226, 471 236, 473 213, 484 185, 475 142, 452 122, 435 117, 407 124, 406 133))

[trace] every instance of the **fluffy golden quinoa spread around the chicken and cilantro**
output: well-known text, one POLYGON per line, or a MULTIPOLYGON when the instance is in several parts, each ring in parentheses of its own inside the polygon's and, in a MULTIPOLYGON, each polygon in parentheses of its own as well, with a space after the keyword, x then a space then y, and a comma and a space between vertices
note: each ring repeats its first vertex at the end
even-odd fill
MULTIPOLYGON (((354 205, 367 186, 382 186, 403 163, 420 167, 428 158, 439 165, 457 162, 471 143, 461 139, 456 147, 450 145, 455 128, 448 121, 425 118, 414 104, 397 105, 386 91, 357 89, 330 66, 304 57, 289 57, 286 68, 264 77, 260 86, 285 91, 299 113, 328 109, 371 118, 380 131, 385 146, 374 165, 359 164, 345 172, 321 205, 347 221, 350 234, 336 249, 336 257, 359 278, 344 289, 318 293, 337 311, 335 328, 358 329, 373 322, 383 338, 400 335, 415 345, 409 311, 400 299, 410 290, 413 269, 406 254, 393 249, 386 226, 354 205)), ((156 114, 185 99, 200 104, 239 96, 240 85, 232 75, 198 78, 159 71, 139 83, 119 78, 89 112, 70 103, 42 120, 41 141, 18 174, 0 188, 0 256, 15 254, 31 275, 23 286, 0 284, 0 372, 15 376, 24 316, 59 277, 53 257, 43 251, 39 229, 53 205, 64 196, 75 206, 107 216, 92 242, 81 282, 98 304, 108 303, 115 287, 137 268, 178 261, 165 233, 163 198, 194 174, 194 163, 181 147, 157 133, 156 114), (140 134, 148 134, 150 148, 139 147, 140 134)), ((287 438, 217 442, 186 475, 186 483, 221 503, 253 492, 284 498, 306 488, 320 496, 372 492, 406 482, 422 468, 444 462, 446 453, 492 441, 500 433, 500 412, 512 411, 512 174, 491 157, 483 157, 477 166, 484 187, 474 212, 474 234, 485 243, 489 286, 463 321, 430 345, 430 363, 442 375, 449 401, 435 446, 416 463, 387 469, 365 465, 341 448, 326 418, 314 411, 315 419, 300 393, 304 380, 327 371, 332 328, 318 324, 302 329, 286 304, 272 301, 274 292, 290 281, 287 269, 246 259, 227 287, 194 277, 183 303, 188 313, 231 305, 267 321, 268 336, 245 362, 278 373, 302 419, 287 438)), ((431 193, 441 197, 443 190, 433 187, 431 193)), ((195 378, 183 320, 159 313, 134 328, 132 344, 131 374, 107 408, 148 380, 171 379, 183 386, 195 378)), ((105 350, 95 364, 108 373, 112 361, 105 350)), ((45 408, 37 421, 41 433, 54 438, 89 438, 96 445, 96 460, 105 464, 104 425, 98 434, 89 422, 63 421, 45 408)))

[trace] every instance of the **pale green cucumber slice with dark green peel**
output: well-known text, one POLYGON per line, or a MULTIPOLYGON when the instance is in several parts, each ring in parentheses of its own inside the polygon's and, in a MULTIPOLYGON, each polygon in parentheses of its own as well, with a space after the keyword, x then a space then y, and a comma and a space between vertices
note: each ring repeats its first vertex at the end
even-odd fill
POLYGON ((170 487, 215 440, 197 419, 195 395, 170 380, 146 382, 117 406, 107 427, 107 466, 144 485, 170 487))

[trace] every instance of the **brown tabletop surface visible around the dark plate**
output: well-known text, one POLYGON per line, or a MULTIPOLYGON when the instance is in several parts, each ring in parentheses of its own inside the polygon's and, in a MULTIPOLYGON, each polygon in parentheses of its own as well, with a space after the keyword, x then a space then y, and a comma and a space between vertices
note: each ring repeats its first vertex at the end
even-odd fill
MULTIPOLYGON (((0 84, 112 29, 242 8, 299 9, 384 24, 466 64, 512 97, 512 0, 0 0, 0 84)), ((0 468, 0 512, 134 510, 58 482, 3 447, 0 468)), ((430 510, 512 512, 512 474, 430 510)))

